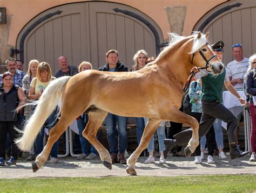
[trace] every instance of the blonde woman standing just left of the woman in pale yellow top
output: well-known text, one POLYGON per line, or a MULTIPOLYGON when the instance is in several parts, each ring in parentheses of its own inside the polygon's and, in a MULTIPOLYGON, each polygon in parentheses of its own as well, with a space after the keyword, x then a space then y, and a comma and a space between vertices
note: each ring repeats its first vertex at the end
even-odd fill
MULTIPOLYGON (((28 72, 26 72, 26 75, 22 79, 22 88, 25 92, 26 97, 28 97, 28 95, 29 95, 30 83, 31 83, 32 79, 35 78, 36 75, 37 75, 38 65, 39 65, 38 60, 30 60, 28 72)), ((30 101, 27 100, 26 103, 30 103, 30 101)), ((23 118, 23 120, 29 118, 29 116, 31 114, 31 111, 32 111, 31 105, 27 105, 27 106, 24 107, 24 118, 23 118)), ((31 149, 30 149, 30 152, 29 152, 29 156, 26 160, 27 161, 35 160, 34 155, 35 155, 35 148, 34 148, 34 146, 32 146, 31 149)))

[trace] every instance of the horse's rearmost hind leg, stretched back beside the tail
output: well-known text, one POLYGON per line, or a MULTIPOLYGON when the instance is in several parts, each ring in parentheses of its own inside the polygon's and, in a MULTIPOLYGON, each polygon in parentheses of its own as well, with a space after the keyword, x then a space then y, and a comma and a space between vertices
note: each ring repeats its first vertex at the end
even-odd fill
POLYGON ((53 144, 59 139, 60 135, 66 130, 66 128, 68 128, 73 120, 75 120, 75 117, 64 116, 64 114, 60 116, 58 123, 50 130, 49 138, 43 151, 37 156, 36 160, 32 164, 33 172, 36 172, 47 161, 53 144))

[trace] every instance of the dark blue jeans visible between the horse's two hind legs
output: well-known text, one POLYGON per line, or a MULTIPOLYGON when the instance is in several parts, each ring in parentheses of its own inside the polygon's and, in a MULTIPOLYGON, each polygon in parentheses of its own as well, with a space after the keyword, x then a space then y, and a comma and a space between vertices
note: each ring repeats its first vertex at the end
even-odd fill
POLYGON ((77 120, 77 127, 79 131, 79 139, 80 139, 80 144, 82 146, 82 152, 86 155, 89 155, 90 153, 97 155, 97 150, 95 149, 95 147, 93 147, 93 145, 91 145, 91 151, 89 151, 88 145, 90 144, 90 142, 86 138, 84 138, 82 134, 87 124, 87 120, 88 120, 88 115, 86 115, 86 118, 84 115, 83 117, 79 116, 77 120))

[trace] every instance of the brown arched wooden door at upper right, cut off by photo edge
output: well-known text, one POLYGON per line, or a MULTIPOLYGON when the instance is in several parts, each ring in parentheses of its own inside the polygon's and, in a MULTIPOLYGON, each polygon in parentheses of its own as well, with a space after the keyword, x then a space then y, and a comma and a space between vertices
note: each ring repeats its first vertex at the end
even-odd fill
POLYGON ((210 31, 209 42, 224 41, 224 63, 233 60, 232 45, 242 44, 244 56, 256 53, 256 2, 228 1, 199 20, 195 31, 210 31))

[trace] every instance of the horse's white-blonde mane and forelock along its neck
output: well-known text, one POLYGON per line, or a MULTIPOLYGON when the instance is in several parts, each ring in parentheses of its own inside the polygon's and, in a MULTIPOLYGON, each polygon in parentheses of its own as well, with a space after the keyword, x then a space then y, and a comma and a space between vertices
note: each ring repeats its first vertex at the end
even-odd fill
POLYGON ((193 54, 194 52, 197 52, 198 49, 200 49, 207 43, 205 34, 201 33, 201 37, 199 39, 197 39, 198 33, 200 33, 200 32, 193 32, 193 34, 188 37, 178 35, 177 33, 169 33, 169 35, 170 35, 169 45, 164 48, 164 50, 157 56, 157 59, 155 61, 148 63, 146 66, 150 66, 153 63, 157 63, 159 60, 164 58, 164 56, 170 51, 170 49, 172 49, 174 46, 176 46, 181 41, 186 40, 186 39, 193 38, 193 47, 191 48, 191 51, 188 52, 188 54, 193 54))

